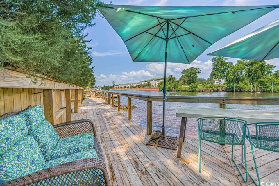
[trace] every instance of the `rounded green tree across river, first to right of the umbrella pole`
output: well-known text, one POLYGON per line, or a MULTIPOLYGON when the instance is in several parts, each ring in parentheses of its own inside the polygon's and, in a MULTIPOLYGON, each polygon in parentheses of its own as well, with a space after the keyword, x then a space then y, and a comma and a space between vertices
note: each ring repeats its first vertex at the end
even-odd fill
POLYGON ((179 78, 179 81, 183 85, 190 85, 192 83, 196 83, 198 79, 198 74, 201 73, 201 70, 199 68, 191 67, 189 69, 184 69, 181 72, 181 77, 179 78))

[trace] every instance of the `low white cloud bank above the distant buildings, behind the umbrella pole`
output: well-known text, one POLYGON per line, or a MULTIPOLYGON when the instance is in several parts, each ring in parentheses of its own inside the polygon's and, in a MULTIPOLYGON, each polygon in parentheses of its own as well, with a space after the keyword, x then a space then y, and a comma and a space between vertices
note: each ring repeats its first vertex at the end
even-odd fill
MULTIPOLYGON (((191 64, 182 64, 182 63, 167 63, 167 76, 173 75, 176 78, 180 78, 181 71, 190 67, 196 67, 201 69, 201 74, 199 77, 208 78, 212 68, 212 62, 206 61, 201 62, 194 60, 191 64)), ((138 71, 123 71, 120 75, 116 74, 101 74, 96 76, 97 85, 110 85, 112 81, 115 81, 116 84, 119 83, 129 83, 129 82, 139 82, 144 79, 159 77, 164 75, 164 63, 150 63, 146 65, 143 69, 138 71)))

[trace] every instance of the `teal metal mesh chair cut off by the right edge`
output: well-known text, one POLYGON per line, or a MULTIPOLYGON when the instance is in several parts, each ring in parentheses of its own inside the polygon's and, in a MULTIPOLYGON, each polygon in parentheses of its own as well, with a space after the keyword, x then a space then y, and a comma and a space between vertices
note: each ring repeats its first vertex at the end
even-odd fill
MULTIPOLYGON (((258 172, 258 167, 257 167, 253 147, 264 149, 267 151, 279 152, 279 122, 257 122, 257 123, 247 124, 247 131, 248 131, 248 135, 246 135, 246 138, 251 145, 251 151, 254 159, 255 169, 257 172, 258 183, 255 181, 255 179, 253 178, 253 176, 250 174, 249 171, 248 174, 251 177, 251 179, 254 181, 254 183, 257 186, 259 186, 261 185, 261 181, 260 181, 260 176, 258 172), (253 126, 255 128, 255 135, 251 135, 248 126, 253 126)), ((242 152, 241 152, 241 156, 243 156, 242 152)))

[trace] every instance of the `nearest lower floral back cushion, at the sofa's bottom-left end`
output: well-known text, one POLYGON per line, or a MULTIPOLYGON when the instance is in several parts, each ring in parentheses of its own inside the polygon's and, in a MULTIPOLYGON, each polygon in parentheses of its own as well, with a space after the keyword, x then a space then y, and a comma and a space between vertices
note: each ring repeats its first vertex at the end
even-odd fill
POLYGON ((45 161, 33 137, 27 135, 0 157, 0 184, 44 168, 45 161))

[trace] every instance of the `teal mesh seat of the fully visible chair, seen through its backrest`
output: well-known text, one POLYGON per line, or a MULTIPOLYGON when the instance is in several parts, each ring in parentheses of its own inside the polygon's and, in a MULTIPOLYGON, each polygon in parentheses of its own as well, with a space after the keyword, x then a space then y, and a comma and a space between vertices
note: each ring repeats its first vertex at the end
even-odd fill
POLYGON ((222 132, 216 130, 203 130, 201 139, 213 143, 240 145, 242 136, 230 132, 222 132))

